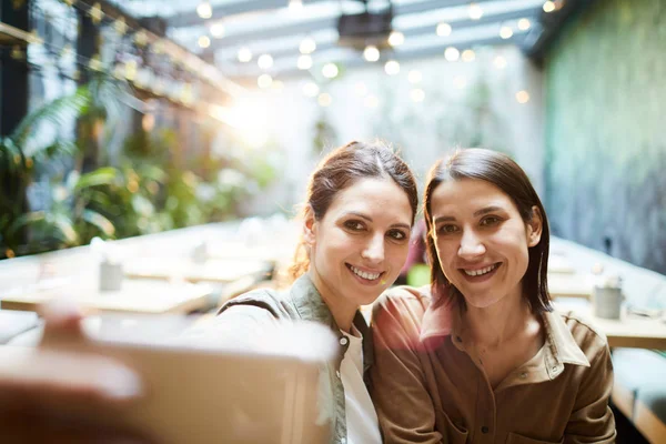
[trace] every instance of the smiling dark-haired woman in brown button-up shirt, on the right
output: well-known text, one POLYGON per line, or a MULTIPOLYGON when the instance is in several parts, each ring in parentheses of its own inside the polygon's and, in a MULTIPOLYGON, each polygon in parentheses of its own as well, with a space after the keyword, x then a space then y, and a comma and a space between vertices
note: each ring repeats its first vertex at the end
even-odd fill
POLYGON ((375 305, 372 395, 386 443, 613 443, 603 335, 555 313, 549 230, 508 157, 460 150, 425 186, 430 286, 375 305))

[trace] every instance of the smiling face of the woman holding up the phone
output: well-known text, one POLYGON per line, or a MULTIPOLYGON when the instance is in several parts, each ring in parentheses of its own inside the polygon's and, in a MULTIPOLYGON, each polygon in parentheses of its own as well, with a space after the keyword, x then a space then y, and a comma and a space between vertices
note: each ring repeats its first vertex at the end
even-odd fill
POLYGON ((362 179, 340 191, 320 221, 306 216, 310 273, 329 304, 370 304, 397 279, 412 215, 393 180, 362 179))

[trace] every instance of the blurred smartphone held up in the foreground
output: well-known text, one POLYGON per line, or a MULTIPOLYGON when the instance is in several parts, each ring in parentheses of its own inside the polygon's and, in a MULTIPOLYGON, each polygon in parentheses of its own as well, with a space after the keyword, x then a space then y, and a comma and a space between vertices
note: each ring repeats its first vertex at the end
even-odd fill
POLYGON ((165 444, 329 442, 317 401, 320 370, 332 357, 335 337, 324 326, 266 331, 266 341, 292 344, 284 353, 180 344, 174 339, 190 322, 178 316, 104 315, 94 322, 88 323, 85 344, 62 346, 127 363, 148 390, 143 401, 109 423, 129 424, 165 444))

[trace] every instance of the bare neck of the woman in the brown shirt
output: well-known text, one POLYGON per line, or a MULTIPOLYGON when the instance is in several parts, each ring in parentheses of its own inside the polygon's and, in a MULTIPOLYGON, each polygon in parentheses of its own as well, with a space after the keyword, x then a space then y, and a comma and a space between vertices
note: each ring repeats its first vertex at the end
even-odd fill
POLYGON ((524 331, 534 317, 519 292, 507 295, 487 307, 467 305, 462 315, 464 330, 476 344, 498 346, 524 331))

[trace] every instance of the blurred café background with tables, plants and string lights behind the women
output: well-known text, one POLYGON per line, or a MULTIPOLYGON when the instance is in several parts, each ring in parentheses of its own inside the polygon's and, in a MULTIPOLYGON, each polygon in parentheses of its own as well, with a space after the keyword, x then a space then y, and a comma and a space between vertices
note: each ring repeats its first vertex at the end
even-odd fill
POLYGON ((420 193, 486 148, 545 205, 555 310, 607 339, 617 442, 666 443, 665 30, 664 0, 3 0, 0 379, 61 297, 101 335, 287 287, 335 147, 387 141, 420 193))

